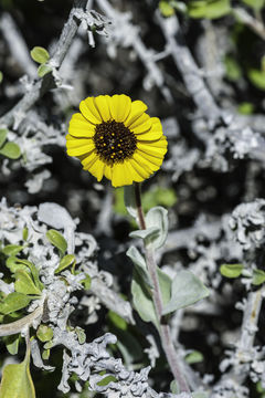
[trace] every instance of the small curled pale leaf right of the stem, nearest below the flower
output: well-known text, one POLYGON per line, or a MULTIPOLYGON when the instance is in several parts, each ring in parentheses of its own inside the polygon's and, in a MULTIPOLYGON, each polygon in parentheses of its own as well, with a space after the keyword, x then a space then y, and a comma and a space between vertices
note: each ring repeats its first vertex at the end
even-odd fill
POLYGON ((146 216, 147 229, 157 228, 158 233, 148 237, 148 242, 153 249, 159 249, 168 235, 168 210, 161 206, 150 209, 146 216))

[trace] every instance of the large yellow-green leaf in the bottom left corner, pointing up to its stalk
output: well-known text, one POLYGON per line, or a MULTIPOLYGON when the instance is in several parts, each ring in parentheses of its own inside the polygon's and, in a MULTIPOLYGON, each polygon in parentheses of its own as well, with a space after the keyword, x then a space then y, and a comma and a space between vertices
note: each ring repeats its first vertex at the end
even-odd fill
POLYGON ((3 368, 0 398, 35 398, 35 389, 30 374, 30 352, 21 364, 3 368))

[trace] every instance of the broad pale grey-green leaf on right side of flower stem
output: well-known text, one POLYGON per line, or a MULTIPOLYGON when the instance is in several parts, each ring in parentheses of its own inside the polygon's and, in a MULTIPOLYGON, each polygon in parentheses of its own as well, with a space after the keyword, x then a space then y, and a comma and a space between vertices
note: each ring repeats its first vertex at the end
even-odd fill
POLYGON ((187 307, 209 295, 208 289, 190 271, 178 272, 171 284, 171 298, 163 307, 163 315, 187 307))

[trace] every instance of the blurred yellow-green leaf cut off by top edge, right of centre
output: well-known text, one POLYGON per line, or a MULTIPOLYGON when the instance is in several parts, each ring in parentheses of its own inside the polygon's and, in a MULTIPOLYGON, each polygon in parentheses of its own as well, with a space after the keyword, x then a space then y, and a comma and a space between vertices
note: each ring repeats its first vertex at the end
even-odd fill
POLYGON ((193 0, 188 4, 191 18, 221 18, 231 12, 230 0, 193 0))

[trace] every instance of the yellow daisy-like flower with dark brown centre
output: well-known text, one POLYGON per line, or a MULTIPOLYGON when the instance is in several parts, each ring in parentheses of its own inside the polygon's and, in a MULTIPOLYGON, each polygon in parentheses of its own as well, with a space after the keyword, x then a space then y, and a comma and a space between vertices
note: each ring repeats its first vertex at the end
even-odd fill
POLYGON ((140 182, 158 170, 167 153, 167 139, 157 117, 145 113, 146 104, 127 95, 99 95, 81 102, 70 121, 67 154, 84 170, 114 187, 140 182))

